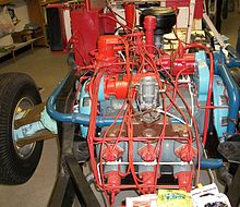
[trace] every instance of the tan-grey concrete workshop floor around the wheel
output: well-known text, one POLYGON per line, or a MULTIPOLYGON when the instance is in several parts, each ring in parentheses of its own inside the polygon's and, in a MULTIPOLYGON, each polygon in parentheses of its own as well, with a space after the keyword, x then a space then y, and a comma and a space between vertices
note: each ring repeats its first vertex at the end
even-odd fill
MULTIPOLYGON (((240 14, 229 13, 223 22, 223 34, 236 44, 237 29, 240 26, 240 14)), ((29 74, 38 87, 43 87, 41 97, 46 100, 59 81, 68 72, 67 54, 50 52, 49 49, 36 49, 0 64, 0 73, 23 72, 29 74)), ((58 146, 55 139, 46 141, 39 166, 33 178, 19 186, 0 185, 0 206, 4 207, 46 207, 57 174, 58 146)), ((205 182, 207 182, 205 180, 205 182)), ((125 194, 127 195, 127 194, 125 194)))

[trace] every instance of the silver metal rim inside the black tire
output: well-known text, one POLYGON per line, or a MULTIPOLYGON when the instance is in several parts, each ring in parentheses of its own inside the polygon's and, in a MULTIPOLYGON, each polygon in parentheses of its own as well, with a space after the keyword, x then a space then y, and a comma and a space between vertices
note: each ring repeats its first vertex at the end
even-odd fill
POLYGON ((23 97, 16 105, 14 113, 13 113, 13 120, 12 120, 12 139, 13 139, 13 146, 15 148, 16 155, 21 159, 27 159, 34 151, 34 148, 36 146, 36 143, 32 143, 29 145, 25 145, 23 147, 17 146, 16 139, 14 138, 14 129, 15 129, 15 120, 17 120, 17 114, 20 114, 22 111, 31 108, 34 106, 34 102, 28 97, 23 97))

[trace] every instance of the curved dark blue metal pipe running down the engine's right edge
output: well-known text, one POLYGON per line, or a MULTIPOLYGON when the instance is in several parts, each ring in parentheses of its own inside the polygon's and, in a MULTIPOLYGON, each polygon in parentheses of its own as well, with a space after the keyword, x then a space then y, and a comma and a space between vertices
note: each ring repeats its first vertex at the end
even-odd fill
POLYGON ((229 97, 227 133, 231 135, 235 133, 236 123, 238 120, 238 111, 240 105, 239 88, 233 77, 231 76, 230 71, 225 64, 219 63, 217 65, 217 70, 215 70, 215 73, 217 73, 223 78, 224 84, 227 87, 228 97, 229 97))

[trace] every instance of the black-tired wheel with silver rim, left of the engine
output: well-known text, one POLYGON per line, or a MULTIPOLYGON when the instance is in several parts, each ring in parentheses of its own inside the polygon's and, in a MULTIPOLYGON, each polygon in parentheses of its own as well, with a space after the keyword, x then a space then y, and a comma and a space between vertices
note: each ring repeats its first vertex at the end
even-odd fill
POLYGON ((28 75, 23 73, 0 75, 0 183, 2 184, 25 183, 38 165, 43 141, 26 148, 17 147, 13 139, 13 119, 16 108, 25 110, 40 102, 35 82, 28 75))

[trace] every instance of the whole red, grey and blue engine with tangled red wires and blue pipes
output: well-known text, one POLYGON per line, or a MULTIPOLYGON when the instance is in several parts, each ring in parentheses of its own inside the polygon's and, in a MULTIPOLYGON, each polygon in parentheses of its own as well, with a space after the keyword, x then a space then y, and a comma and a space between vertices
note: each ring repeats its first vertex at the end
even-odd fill
POLYGON ((111 8, 100 14, 72 12, 77 78, 72 113, 49 107, 62 83, 48 113, 77 125, 96 186, 112 203, 123 190, 189 192, 200 183, 200 169, 223 166, 223 160, 207 159, 204 147, 209 125, 218 143, 235 134, 238 86, 221 52, 178 37, 178 9, 142 9, 136 25, 134 3, 123 8, 125 25, 112 17, 111 8), (96 25, 104 25, 105 33, 95 33, 96 25), (166 36, 171 32, 175 38, 166 36))

